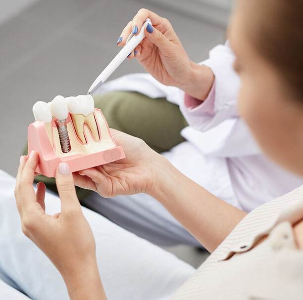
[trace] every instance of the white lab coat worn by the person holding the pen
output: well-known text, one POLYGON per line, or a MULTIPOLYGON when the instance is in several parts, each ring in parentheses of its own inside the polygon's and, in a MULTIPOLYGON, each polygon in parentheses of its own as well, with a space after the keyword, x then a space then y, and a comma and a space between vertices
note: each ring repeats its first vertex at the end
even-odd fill
MULTIPOLYGON (((237 110, 240 79, 227 42, 217 45, 202 62, 215 75, 213 114, 188 109, 184 92, 164 86, 149 74, 130 74, 105 83, 100 93, 128 90, 151 98, 166 97, 178 104, 189 127, 181 131, 187 142, 163 153, 170 162, 204 188, 247 212, 303 184, 265 158, 237 110)), ((203 105, 203 104, 202 104, 203 105)))

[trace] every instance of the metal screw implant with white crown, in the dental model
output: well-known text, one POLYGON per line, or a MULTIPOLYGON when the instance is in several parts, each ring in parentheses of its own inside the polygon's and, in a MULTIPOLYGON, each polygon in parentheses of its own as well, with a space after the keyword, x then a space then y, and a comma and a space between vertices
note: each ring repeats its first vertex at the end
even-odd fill
POLYGON ((51 114, 57 119, 57 129, 59 133, 60 145, 62 152, 70 151, 68 131, 66 127, 66 118, 68 117, 68 108, 63 96, 55 96, 50 103, 51 114))

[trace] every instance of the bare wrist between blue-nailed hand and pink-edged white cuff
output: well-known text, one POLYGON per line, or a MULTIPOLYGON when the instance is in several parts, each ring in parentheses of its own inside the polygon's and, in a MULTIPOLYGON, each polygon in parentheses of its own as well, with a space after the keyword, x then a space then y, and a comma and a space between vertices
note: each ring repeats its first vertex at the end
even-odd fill
POLYGON ((214 74, 210 68, 191 62, 191 75, 189 80, 186 85, 180 85, 179 87, 190 96, 203 101, 206 99, 213 85, 213 81, 214 74))

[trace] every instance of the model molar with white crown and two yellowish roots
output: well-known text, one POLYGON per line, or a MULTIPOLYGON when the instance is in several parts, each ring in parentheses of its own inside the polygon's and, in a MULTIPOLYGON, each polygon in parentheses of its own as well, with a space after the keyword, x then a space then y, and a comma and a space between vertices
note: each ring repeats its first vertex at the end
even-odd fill
POLYGON ((95 104, 91 95, 79 95, 65 98, 79 139, 85 144, 84 124, 91 129, 94 139, 99 140, 98 127, 95 121, 95 104))

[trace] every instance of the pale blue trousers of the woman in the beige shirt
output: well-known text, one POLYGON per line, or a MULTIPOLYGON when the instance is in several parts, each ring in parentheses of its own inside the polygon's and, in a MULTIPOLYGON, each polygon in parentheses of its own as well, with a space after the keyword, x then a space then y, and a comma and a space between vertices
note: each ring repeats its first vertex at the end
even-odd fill
MULTIPOLYGON (((14 187, 15 178, 0 171, 0 280, 15 289, 0 282, 0 299, 27 299, 19 290, 30 299, 67 300, 57 269, 22 233, 14 187)), ((60 199, 47 193, 47 214, 59 211, 60 199)), ((191 265, 102 215, 86 208, 83 214, 95 236, 98 268, 109 300, 170 299, 195 272, 191 265)))

